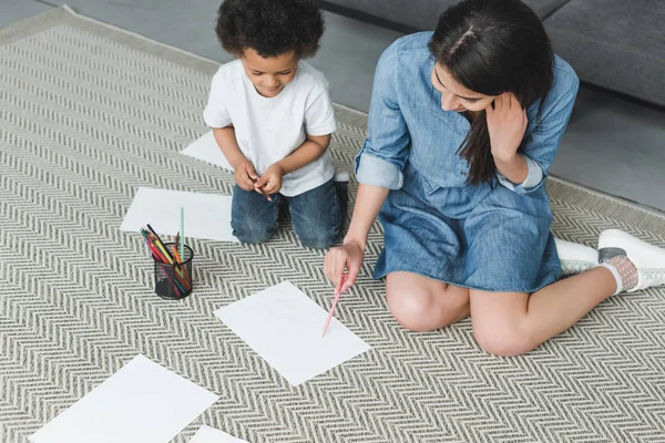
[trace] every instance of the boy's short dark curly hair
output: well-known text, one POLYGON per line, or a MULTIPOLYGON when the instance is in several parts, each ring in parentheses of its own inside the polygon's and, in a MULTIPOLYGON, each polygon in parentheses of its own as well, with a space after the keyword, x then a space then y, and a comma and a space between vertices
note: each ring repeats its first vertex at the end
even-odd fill
POLYGON ((318 50, 324 17, 316 0, 224 0, 215 32, 235 55, 252 48, 264 58, 294 50, 308 58, 318 50))

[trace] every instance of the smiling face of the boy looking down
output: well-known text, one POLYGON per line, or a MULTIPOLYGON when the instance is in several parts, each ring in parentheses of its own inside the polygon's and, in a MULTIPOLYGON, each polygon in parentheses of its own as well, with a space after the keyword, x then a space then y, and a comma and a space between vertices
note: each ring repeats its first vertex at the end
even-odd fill
POLYGON ((296 76, 300 58, 296 51, 264 59, 252 48, 241 55, 243 68, 256 91, 266 97, 277 96, 296 76))

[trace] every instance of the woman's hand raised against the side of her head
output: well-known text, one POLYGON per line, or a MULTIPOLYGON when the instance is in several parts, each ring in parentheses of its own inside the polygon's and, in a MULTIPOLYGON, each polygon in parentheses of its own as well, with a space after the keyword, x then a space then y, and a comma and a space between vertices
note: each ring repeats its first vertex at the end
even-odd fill
POLYGON ((512 162, 526 132, 526 111, 511 92, 494 99, 494 106, 485 107, 492 156, 500 162, 512 162))

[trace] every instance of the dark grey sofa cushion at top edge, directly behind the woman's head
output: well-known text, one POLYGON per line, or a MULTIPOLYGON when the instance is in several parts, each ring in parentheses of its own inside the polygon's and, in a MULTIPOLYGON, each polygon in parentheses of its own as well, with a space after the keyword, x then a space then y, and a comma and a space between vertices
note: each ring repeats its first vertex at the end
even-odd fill
MULTIPOLYGON (((441 12, 459 0, 331 0, 326 3, 365 12, 393 23, 419 30, 433 30, 441 12)), ((535 13, 545 18, 570 0, 525 0, 535 13)))

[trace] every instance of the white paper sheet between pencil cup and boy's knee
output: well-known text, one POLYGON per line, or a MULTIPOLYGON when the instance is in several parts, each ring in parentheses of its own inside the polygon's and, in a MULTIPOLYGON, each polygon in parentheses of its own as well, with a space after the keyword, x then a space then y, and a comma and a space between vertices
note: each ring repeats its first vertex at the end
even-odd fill
POLYGON ((229 195, 141 187, 120 229, 139 231, 150 224, 157 234, 176 235, 182 206, 186 237, 238 243, 231 228, 231 202, 229 195))

